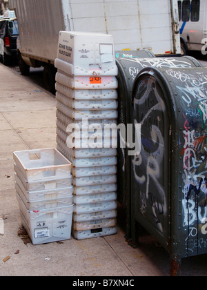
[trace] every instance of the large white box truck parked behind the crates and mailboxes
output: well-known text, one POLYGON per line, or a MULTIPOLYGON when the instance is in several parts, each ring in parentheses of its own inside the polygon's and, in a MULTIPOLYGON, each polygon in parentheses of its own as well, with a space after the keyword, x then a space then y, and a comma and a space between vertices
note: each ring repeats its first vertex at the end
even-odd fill
POLYGON ((110 34, 115 50, 181 52, 177 0, 9 0, 9 4, 19 25, 21 73, 43 66, 50 91, 55 85, 59 31, 110 34))

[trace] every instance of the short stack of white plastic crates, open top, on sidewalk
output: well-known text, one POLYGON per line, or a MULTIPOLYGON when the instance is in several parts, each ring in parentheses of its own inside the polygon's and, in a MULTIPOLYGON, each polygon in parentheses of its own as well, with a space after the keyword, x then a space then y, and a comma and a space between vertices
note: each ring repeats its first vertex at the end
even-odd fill
POLYGON ((32 244, 70 240, 71 162, 55 148, 16 151, 13 156, 21 222, 32 244))

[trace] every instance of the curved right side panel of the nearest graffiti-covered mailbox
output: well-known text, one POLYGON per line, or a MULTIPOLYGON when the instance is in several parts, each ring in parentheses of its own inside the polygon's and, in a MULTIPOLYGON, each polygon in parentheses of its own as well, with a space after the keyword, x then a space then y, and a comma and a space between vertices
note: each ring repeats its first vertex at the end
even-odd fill
POLYGON ((177 119, 172 130, 171 251, 174 258, 207 253, 207 70, 161 69, 177 119))

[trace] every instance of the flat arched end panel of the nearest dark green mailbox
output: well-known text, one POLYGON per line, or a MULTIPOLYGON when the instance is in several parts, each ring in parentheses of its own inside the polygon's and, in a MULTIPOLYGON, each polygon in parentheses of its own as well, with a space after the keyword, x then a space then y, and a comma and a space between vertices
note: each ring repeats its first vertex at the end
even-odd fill
MULTIPOLYGON (((152 73, 133 89, 132 122, 141 124, 141 152, 131 157, 132 231, 139 222, 168 249, 170 237, 170 110, 152 73)), ((134 131, 134 141, 137 133, 134 131)), ((132 233, 135 235, 135 233, 132 233)))

